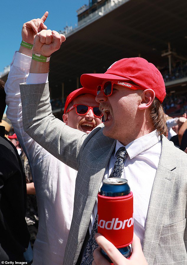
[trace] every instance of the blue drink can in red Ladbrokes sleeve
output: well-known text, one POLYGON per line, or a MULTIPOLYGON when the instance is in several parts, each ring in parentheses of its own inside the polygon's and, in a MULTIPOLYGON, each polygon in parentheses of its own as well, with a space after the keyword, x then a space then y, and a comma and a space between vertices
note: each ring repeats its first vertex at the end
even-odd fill
MULTIPOLYGON (((104 180, 98 194, 98 232, 113 243, 123 256, 129 258, 133 227, 133 194, 127 180, 104 180)), ((101 253, 111 262, 103 250, 101 253)))

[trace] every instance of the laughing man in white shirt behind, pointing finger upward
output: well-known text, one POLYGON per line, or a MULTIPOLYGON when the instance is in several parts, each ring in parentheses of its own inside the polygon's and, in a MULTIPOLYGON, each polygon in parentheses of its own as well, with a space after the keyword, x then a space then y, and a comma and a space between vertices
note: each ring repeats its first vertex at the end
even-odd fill
MULTIPOLYGON (((32 59, 32 50, 27 47, 33 44, 36 31, 40 32, 41 28, 46 27, 44 22, 47 15, 48 12, 45 12, 41 19, 32 19, 23 25, 22 45, 26 47, 21 45, 13 57, 5 84, 6 114, 29 160, 36 189, 39 227, 33 247, 33 264, 61 265, 73 215, 77 170, 51 155, 24 132, 19 90, 19 83, 27 79, 32 59)), ((95 97, 96 91, 85 88, 71 92, 65 102, 64 122, 74 129, 90 133, 102 119, 95 97)))

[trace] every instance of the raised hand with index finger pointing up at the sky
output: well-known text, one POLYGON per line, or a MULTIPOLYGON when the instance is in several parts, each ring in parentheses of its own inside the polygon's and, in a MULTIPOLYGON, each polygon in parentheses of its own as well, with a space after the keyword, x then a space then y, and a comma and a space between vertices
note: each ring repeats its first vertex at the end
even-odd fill
POLYGON ((47 19, 48 11, 41 18, 32 19, 23 24, 22 27, 22 40, 33 44, 35 36, 41 30, 46 30, 47 26, 44 25, 45 20, 47 19))

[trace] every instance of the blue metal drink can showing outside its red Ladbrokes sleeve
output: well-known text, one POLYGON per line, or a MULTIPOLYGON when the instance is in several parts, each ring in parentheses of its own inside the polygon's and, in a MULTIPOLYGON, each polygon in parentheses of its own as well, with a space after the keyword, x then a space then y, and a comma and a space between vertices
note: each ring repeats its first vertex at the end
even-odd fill
MULTIPOLYGON (((108 197, 128 195, 130 193, 130 187, 127 182, 128 182, 127 179, 124 179, 124 178, 104 179, 100 194, 102 196, 108 196, 108 197)), ((127 259, 131 256, 130 246, 127 246, 124 248, 118 248, 118 250, 127 259)), ((101 253, 105 257, 105 259, 107 259, 110 263, 112 263, 111 259, 106 254, 106 252, 104 252, 102 248, 101 248, 101 253)))

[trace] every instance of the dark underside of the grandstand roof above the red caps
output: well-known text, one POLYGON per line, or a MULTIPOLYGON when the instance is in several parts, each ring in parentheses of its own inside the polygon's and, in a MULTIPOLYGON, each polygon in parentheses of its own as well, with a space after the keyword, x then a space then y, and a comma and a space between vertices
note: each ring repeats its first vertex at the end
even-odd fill
POLYGON ((83 73, 103 73, 125 57, 141 56, 156 66, 168 65, 161 57, 171 48, 186 56, 186 0, 129 0, 99 19, 86 22, 67 35, 51 57, 49 82, 55 94, 64 83, 65 95, 81 87, 83 73))

